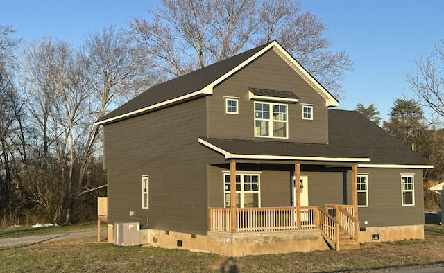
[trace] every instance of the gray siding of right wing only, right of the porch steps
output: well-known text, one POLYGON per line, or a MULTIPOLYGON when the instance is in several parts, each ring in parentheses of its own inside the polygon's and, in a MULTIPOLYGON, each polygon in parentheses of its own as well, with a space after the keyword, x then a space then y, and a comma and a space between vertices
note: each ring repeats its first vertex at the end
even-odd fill
POLYGON ((368 173, 368 207, 359 207, 361 227, 424 224, 422 170, 359 168, 358 173, 368 173), (402 206, 401 174, 406 173, 415 176, 414 206, 402 206))

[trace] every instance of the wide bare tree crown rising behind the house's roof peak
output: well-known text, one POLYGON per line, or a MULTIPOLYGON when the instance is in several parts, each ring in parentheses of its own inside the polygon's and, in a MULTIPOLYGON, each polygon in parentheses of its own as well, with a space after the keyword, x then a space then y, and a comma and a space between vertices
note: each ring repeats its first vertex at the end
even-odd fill
POLYGON ((148 10, 153 21, 130 22, 128 33, 144 46, 167 77, 180 76, 208 64, 277 39, 335 96, 353 62, 345 51, 329 50, 327 26, 302 12, 291 0, 162 0, 148 10))

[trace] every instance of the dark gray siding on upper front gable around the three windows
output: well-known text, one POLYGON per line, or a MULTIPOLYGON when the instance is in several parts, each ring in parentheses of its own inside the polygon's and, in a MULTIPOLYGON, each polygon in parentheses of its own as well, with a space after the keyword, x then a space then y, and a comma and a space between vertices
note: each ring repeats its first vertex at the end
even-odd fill
POLYGON ((301 143, 328 142, 325 100, 274 51, 268 51, 228 80, 223 81, 214 88, 213 96, 207 99, 208 137, 301 143), (299 97, 297 104, 288 105, 288 139, 255 138, 254 101, 248 100, 248 87, 292 91, 299 97), (239 98, 239 114, 225 114, 224 96, 239 98), (301 103, 314 105, 314 120, 302 120, 301 103))

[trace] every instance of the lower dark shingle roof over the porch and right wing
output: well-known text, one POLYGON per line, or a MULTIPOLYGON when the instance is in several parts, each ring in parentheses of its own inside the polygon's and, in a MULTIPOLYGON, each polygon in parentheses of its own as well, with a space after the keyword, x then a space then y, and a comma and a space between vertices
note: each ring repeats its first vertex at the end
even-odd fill
POLYGON ((370 162, 365 160, 361 162, 363 164, 432 165, 427 159, 413 152, 398 139, 355 111, 329 110, 328 144, 201 139, 235 155, 322 157, 356 159, 357 162, 360 162, 359 158, 370 158, 370 162))

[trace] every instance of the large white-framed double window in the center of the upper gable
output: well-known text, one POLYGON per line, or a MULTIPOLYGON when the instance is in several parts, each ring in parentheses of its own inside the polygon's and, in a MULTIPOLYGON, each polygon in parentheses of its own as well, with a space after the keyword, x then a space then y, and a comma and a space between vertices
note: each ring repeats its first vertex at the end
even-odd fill
POLYGON ((287 105, 255 103, 255 136, 287 138, 287 105))

